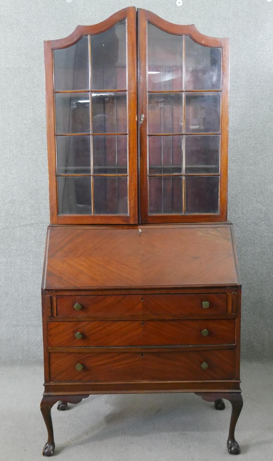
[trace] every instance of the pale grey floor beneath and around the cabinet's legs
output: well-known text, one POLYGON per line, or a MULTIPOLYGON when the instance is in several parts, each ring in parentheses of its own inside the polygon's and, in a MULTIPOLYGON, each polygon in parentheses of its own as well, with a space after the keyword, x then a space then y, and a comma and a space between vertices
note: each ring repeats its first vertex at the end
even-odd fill
MULTIPOLYGON (((242 460, 273 459, 273 363, 242 364, 244 407, 236 438, 242 460)), ((0 368, 0 460, 42 458, 41 366, 0 368)), ((90 396, 52 409, 55 457, 88 461, 222 461, 231 406, 214 410, 194 394, 90 396)))

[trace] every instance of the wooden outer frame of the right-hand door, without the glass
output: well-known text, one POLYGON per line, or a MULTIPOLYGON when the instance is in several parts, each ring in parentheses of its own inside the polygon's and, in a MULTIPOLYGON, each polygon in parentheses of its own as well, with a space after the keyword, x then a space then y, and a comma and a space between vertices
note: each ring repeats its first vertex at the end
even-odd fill
POLYGON ((229 102, 229 39, 202 35, 194 24, 172 24, 147 10, 138 9, 138 119, 139 124, 139 171, 140 171, 140 222, 142 223, 183 223, 217 222, 227 219, 227 167, 228 167, 228 102, 229 102), (148 214, 148 67, 147 67, 147 23, 174 35, 190 37, 207 47, 220 47, 222 50, 222 91, 220 112, 220 197, 219 214, 148 214))

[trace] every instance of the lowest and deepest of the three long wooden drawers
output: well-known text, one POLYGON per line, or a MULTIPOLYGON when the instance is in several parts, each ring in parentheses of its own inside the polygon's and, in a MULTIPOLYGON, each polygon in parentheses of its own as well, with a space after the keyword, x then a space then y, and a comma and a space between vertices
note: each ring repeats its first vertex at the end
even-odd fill
POLYGON ((225 380, 235 378, 235 349, 196 352, 51 353, 50 381, 225 380), (204 364, 208 367, 203 369, 204 364), (77 370, 82 365, 81 370, 77 370))

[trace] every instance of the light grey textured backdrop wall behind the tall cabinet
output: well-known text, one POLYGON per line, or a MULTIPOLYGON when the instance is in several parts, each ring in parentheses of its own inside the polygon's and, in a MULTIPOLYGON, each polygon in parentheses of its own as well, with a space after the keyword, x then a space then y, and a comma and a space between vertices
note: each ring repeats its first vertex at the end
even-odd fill
MULTIPOLYGON (((43 40, 95 24, 129 0, 0 0, 0 360, 42 361, 40 286, 49 223, 43 40)), ((242 355, 273 350, 273 1, 136 1, 230 37, 229 219, 243 283, 242 355)))

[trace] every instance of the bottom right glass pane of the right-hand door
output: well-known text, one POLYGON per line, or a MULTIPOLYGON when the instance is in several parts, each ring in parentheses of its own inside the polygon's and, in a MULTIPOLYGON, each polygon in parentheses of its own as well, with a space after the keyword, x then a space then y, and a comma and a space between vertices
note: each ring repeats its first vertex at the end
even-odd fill
POLYGON ((185 213, 218 213, 219 176, 186 176, 185 195, 185 213))

